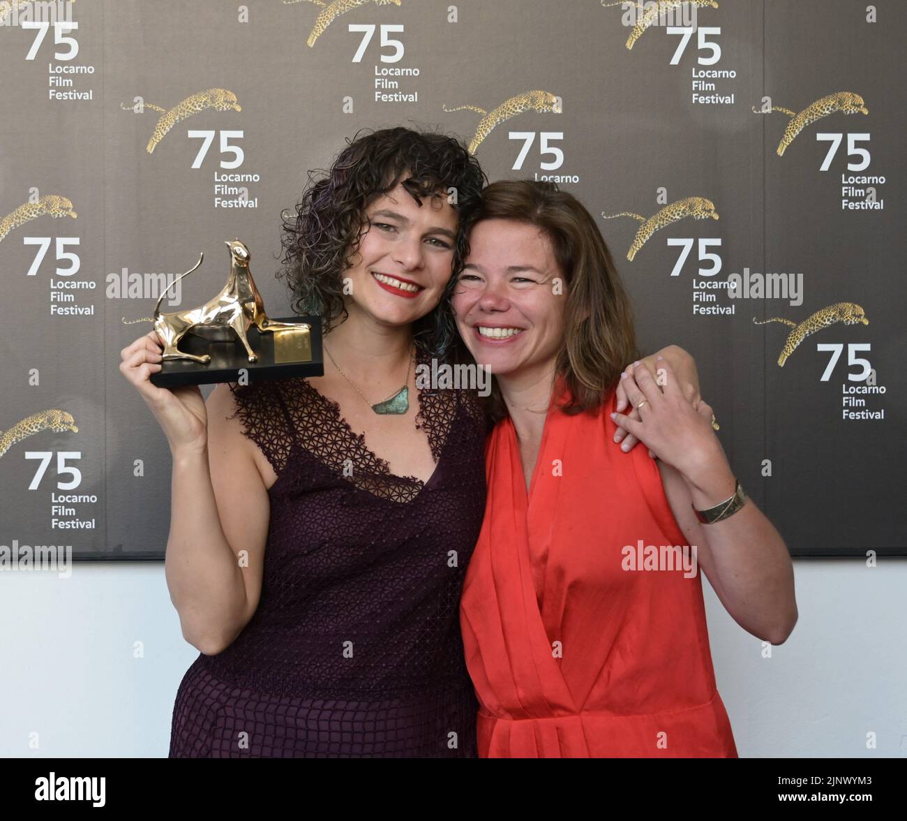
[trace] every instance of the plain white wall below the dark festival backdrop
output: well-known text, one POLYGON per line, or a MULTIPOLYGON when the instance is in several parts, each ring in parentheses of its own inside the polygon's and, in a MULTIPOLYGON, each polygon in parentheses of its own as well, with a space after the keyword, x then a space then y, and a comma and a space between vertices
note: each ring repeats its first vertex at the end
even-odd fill
MULTIPOLYGON (((799 560, 795 574, 800 621, 771 659, 703 584, 740 756, 907 757, 907 561, 799 560)), ((167 755, 198 654, 161 562, 76 562, 69 579, 0 572, 0 623, 0 756, 167 755)))

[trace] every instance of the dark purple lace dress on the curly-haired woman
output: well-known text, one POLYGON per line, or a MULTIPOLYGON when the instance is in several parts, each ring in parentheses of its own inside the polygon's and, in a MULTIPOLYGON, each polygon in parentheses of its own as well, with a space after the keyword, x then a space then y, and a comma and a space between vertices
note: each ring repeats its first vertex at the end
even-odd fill
POLYGON ((170 757, 474 757, 459 602, 485 504, 476 396, 419 392, 426 483, 391 474, 306 379, 234 396, 278 475, 261 599, 187 670, 170 757))

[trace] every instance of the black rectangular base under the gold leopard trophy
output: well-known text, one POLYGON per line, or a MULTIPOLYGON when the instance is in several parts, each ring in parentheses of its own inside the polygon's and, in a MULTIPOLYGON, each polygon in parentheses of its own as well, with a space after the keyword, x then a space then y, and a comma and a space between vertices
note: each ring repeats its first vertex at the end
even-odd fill
POLYGON ((161 370, 151 374, 151 384, 158 387, 179 387, 182 385, 214 385, 219 382, 239 382, 239 371, 244 369, 249 383, 258 379, 288 379, 293 376, 324 376, 325 360, 321 348, 320 317, 272 317, 274 322, 300 323, 309 325, 308 342, 311 357, 307 350, 294 353, 292 332, 278 341, 275 349, 275 336, 280 332, 261 334, 254 325, 249 328, 249 345, 258 356, 258 362, 249 362, 246 348, 239 337, 230 328, 202 329, 206 334, 200 337, 188 333, 180 339, 180 350, 187 354, 203 356, 208 354, 211 361, 207 365, 191 359, 169 359, 161 362, 161 370), (291 344, 285 344, 290 341, 291 344), (297 359, 297 361, 288 361, 297 359), (305 359, 305 361, 303 361, 305 359))

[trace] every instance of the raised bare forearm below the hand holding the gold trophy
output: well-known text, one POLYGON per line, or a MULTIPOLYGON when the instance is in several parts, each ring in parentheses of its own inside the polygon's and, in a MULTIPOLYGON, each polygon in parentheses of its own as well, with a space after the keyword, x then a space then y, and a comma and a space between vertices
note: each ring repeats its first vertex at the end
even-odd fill
POLYGON ((164 571, 185 639, 208 654, 226 647, 245 624, 247 596, 220 523, 207 449, 173 456, 164 571))

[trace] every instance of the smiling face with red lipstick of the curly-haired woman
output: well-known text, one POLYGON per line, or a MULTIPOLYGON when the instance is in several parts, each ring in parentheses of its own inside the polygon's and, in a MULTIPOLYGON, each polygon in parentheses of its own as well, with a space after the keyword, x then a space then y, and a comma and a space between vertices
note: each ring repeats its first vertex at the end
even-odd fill
POLYGON ((419 206, 398 184, 367 206, 371 226, 342 275, 350 317, 407 325, 441 300, 453 272, 458 215, 444 196, 421 199, 419 206))

